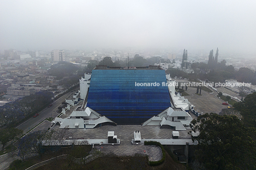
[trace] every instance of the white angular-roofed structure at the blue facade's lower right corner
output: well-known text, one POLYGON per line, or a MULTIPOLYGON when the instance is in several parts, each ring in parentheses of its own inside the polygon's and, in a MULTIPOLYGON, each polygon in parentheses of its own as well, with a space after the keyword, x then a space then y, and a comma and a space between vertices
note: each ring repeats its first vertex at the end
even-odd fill
POLYGON ((161 128, 172 128, 175 130, 186 130, 186 126, 189 126, 192 121, 192 117, 185 110, 173 110, 171 107, 164 110, 157 116, 153 116, 149 120, 145 121, 142 126, 145 125, 160 125, 161 128))

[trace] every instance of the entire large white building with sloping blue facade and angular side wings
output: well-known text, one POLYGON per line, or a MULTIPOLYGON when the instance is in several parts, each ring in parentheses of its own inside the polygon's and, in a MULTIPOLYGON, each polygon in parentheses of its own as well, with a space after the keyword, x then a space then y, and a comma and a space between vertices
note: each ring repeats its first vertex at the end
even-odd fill
POLYGON ((80 90, 66 102, 65 116, 53 121, 60 128, 140 124, 186 130, 192 120, 188 111, 193 111, 188 100, 175 94, 175 80, 159 66, 97 66, 81 78, 80 90))

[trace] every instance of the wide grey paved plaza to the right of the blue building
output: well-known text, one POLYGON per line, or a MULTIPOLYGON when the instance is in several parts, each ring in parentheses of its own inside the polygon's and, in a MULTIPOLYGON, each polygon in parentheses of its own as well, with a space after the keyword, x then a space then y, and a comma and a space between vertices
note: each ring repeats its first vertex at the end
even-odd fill
POLYGON ((187 91, 190 96, 184 96, 185 99, 188 99, 192 105, 194 105, 194 109, 198 110, 199 113, 217 113, 227 108, 228 106, 222 105, 223 101, 216 98, 217 92, 213 90, 213 94, 210 94, 204 90, 202 90, 202 96, 195 94, 196 88, 189 87, 187 91))

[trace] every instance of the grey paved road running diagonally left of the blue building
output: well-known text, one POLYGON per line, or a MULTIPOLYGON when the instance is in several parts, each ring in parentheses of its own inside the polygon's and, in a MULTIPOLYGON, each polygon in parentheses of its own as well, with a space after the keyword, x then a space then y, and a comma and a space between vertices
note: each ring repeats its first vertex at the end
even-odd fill
POLYGON ((56 113, 56 111, 58 110, 58 107, 71 93, 72 92, 69 92, 64 96, 60 97, 58 100, 55 100, 52 107, 44 109, 39 113, 39 116, 25 121, 24 123, 17 126, 16 128, 23 130, 23 133, 27 133, 29 130, 36 127, 39 123, 41 123, 46 118, 50 118, 50 117, 55 118, 58 115, 56 113))

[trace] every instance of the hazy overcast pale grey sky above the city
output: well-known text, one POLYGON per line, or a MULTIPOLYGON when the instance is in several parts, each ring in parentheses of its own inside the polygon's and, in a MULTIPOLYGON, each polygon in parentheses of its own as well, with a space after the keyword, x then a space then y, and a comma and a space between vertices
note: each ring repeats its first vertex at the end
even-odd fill
POLYGON ((256 0, 0 0, 0 50, 256 52, 256 0))

